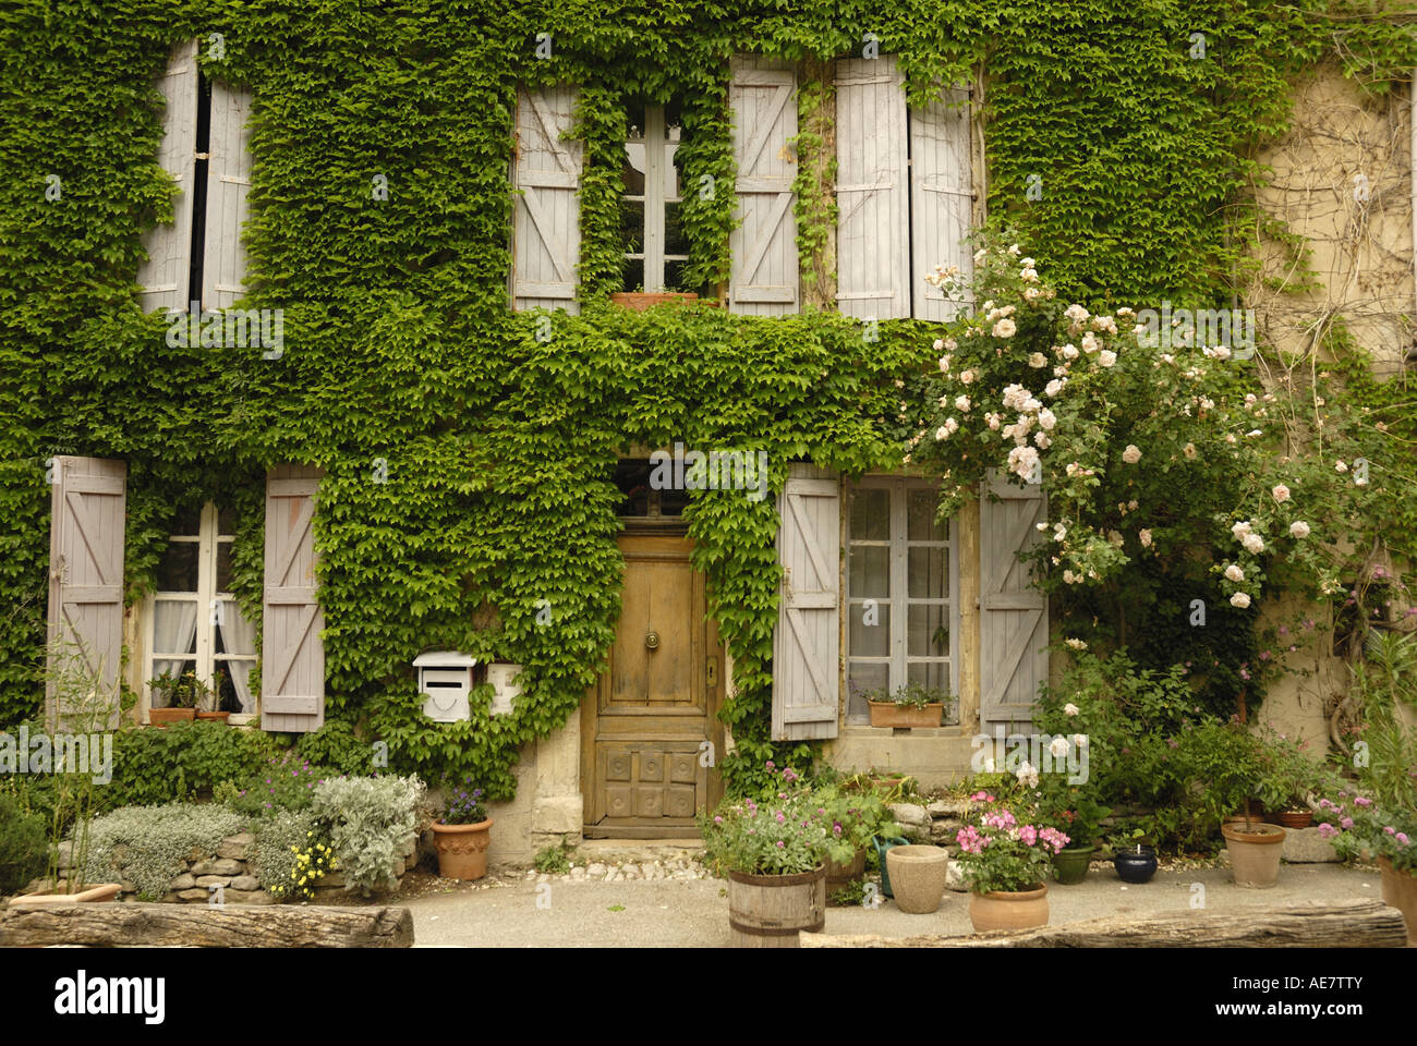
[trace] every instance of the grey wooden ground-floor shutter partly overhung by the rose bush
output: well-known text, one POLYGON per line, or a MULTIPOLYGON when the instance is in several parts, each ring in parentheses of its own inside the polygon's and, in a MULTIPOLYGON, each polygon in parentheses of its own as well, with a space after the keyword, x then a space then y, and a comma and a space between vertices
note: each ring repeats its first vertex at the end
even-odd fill
POLYGON ((1039 686, 1049 677, 1047 597, 1030 585, 1019 553, 1046 540, 1036 529, 1047 517, 1037 483, 1016 486, 990 473, 1002 500, 979 499, 979 720, 1029 723, 1039 686))

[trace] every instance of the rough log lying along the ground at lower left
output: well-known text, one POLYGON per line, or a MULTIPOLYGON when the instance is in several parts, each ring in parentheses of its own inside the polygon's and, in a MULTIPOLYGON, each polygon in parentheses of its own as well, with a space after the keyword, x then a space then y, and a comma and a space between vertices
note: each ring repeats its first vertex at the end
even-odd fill
POLYGON ((65 904, 0 911, 0 947, 411 948, 408 909, 65 904))

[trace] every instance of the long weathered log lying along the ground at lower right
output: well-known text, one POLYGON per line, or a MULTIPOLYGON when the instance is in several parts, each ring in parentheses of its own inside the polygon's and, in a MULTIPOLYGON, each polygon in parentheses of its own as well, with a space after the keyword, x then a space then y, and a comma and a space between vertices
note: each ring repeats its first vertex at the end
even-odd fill
POLYGON ((1401 948, 1403 913, 1379 900, 1311 901, 1230 911, 1104 916, 966 937, 801 934, 803 948, 1401 948))

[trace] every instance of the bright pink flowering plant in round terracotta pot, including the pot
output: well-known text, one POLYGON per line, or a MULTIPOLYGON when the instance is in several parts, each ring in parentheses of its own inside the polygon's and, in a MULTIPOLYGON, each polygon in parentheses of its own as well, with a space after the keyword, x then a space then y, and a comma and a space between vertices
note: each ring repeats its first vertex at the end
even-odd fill
POLYGON ((1051 826, 1020 823, 990 792, 975 792, 969 799, 983 802, 983 812, 955 833, 955 842, 975 931, 1047 926, 1044 880, 1068 836, 1051 826))

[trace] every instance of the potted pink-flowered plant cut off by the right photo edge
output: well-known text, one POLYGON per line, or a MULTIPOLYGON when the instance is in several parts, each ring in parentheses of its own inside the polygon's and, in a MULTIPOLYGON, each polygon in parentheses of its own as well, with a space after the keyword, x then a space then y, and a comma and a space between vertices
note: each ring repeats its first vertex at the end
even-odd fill
POLYGON ((1318 805, 1323 816, 1319 833, 1333 840, 1340 856, 1377 860, 1383 903, 1403 913, 1407 944, 1417 947, 1417 812, 1380 806, 1352 789, 1318 805))

